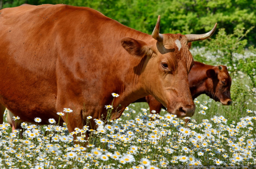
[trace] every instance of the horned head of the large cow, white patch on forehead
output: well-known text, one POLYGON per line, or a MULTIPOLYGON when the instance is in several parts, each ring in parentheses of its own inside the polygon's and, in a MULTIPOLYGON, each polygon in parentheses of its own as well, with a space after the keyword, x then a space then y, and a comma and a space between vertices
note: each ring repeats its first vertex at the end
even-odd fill
POLYGON ((159 29, 160 16, 151 38, 122 38, 121 44, 131 55, 141 57, 134 70, 145 93, 153 95, 169 113, 178 117, 193 116, 195 104, 188 84, 193 57, 187 44, 209 38, 216 25, 201 35, 160 34, 159 29))

